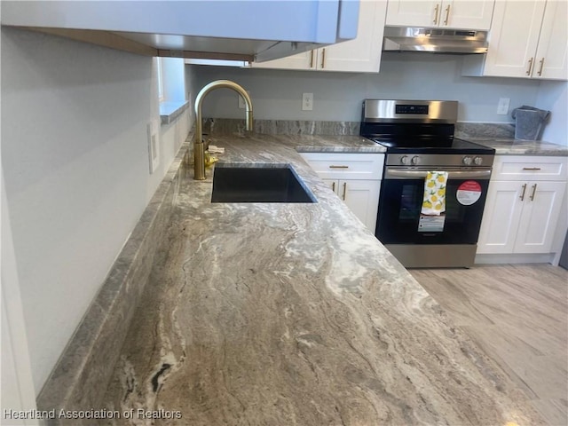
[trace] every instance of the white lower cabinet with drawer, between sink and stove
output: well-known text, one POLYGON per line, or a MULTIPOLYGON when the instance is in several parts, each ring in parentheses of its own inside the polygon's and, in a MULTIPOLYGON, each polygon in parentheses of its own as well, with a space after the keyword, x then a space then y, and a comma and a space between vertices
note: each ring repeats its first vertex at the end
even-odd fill
POLYGON ((301 155, 367 229, 375 233, 384 154, 301 155))

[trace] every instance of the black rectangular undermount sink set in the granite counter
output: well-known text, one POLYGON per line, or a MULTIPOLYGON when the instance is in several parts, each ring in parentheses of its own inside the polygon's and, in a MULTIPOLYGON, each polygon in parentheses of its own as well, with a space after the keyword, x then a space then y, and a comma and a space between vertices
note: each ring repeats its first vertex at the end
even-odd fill
POLYGON ((317 202, 289 164, 217 164, 211 202, 317 202))

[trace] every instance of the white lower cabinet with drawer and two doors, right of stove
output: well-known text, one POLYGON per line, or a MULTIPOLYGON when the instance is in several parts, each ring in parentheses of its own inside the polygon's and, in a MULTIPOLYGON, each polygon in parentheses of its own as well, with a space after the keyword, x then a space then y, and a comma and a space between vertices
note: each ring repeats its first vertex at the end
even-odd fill
POLYGON ((566 159, 495 158, 477 254, 553 252, 566 192, 566 159))

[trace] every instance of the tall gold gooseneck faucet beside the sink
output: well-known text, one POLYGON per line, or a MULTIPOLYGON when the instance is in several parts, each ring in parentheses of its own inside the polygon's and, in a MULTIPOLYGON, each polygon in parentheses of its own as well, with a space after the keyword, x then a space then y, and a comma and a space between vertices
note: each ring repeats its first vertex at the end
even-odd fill
POLYGON ((205 144, 203 143, 203 130, 202 130, 202 118, 201 118, 201 104, 203 99, 209 91, 218 88, 233 89, 239 93, 243 99, 245 99, 246 104, 246 130, 252 130, 252 100, 248 96, 247 91, 245 91, 239 84, 232 82, 231 80, 217 80, 211 82, 201 89, 195 98, 195 139, 193 139, 193 179, 195 180, 205 180, 205 144))

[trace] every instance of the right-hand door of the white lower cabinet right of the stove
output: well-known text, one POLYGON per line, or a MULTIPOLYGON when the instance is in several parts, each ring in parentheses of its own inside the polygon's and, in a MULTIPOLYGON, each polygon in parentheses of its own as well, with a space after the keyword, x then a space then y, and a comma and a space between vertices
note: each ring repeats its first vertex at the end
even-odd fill
POLYGON ((550 252, 565 190, 565 182, 528 182, 515 253, 550 252))

